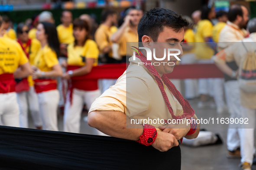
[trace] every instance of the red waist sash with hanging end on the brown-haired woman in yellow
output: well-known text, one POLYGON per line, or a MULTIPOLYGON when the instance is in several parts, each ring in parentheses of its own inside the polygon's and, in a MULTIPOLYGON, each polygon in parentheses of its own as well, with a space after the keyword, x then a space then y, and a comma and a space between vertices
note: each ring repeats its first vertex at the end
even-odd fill
MULTIPOLYGON (((80 66, 70 66, 68 65, 67 71, 69 70, 75 70, 81 68, 80 66)), ((90 74, 89 72, 88 74, 90 74)), ((87 79, 87 75, 83 76, 75 76, 71 77, 71 81, 68 82, 68 90, 69 93, 69 101, 72 105, 72 96, 73 96, 73 90, 74 88, 77 88, 79 90, 85 90, 85 91, 93 91, 98 89, 98 81, 97 79, 87 79)))

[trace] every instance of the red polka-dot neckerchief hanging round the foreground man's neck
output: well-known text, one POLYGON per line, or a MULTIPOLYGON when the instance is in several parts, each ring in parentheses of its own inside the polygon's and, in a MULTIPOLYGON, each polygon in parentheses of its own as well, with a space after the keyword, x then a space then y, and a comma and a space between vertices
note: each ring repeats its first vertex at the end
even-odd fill
POLYGON ((177 120, 177 119, 182 119, 184 117, 190 119, 192 116, 194 116, 194 110, 190 106, 189 102, 182 97, 180 92, 175 88, 175 85, 173 85, 172 82, 168 79, 168 77, 165 74, 163 74, 162 81, 165 83, 167 88, 172 92, 172 94, 175 96, 175 98, 181 104, 182 109, 183 109, 183 115, 181 115, 181 116, 174 115, 172 106, 171 106, 169 99, 167 97, 167 94, 164 90, 159 73, 156 71, 155 67, 151 65, 152 63, 149 60, 146 60, 146 57, 143 54, 141 56, 136 55, 136 57, 138 57, 142 62, 144 62, 144 66, 146 66, 146 68, 149 70, 149 72, 155 76, 158 87, 161 90, 162 96, 165 100, 165 104, 166 104, 169 112, 172 115, 172 119, 177 120))

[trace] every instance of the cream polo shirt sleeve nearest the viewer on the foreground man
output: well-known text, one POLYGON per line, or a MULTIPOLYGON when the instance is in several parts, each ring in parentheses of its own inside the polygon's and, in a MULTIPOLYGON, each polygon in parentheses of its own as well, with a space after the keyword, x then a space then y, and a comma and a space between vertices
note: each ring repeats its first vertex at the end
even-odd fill
POLYGON ((146 82, 131 77, 118 81, 91 105, 95 110, 120 111, 128 117, 143 114, 149 109, 150 98, 146 82))

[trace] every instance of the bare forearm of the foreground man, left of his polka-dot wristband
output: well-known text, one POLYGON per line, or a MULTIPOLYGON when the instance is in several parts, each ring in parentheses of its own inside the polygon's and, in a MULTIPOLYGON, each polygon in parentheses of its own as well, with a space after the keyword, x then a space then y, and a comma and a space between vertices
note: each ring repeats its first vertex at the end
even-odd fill
POLYGON ((107 135, 133 141, 143 134, 143 126, 131 125, 130 118, 120 111, 93 111, 88 114, 88 125, 107 135))

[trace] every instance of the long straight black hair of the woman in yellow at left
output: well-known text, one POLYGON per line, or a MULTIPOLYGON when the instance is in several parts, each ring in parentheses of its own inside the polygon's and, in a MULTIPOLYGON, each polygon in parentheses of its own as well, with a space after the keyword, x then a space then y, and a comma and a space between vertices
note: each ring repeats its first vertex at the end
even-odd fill
POLYGON ((49 47, 52 48, 52 50, 55 51, 55 53, 57 54, 57 56, 60 56, 60 49, 59 49, 59 41, 58 41, 58 34, 57 34, 57 30, 54 24, 49 23, 49 22, 41 22, 41 24, 43 25, 44 29, 45 29, 45 34, 48 35, 47 36, 47 41, 49 44, 49 47))

